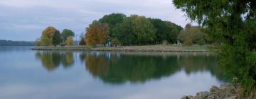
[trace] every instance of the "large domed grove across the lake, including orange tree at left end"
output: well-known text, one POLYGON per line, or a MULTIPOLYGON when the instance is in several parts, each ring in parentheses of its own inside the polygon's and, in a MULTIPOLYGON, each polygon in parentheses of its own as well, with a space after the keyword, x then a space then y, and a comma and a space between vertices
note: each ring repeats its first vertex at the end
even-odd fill
POLYGON ((169 21, 145 16, 126 16, 122 13, 105 15, 86 29, 87 45, 154 45, 164 40, 175 43, 183 28, 169 21))

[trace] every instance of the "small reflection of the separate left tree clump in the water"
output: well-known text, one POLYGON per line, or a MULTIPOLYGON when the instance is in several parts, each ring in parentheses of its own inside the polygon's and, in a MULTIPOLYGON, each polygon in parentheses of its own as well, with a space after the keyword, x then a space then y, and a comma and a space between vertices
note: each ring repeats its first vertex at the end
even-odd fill
POLYGON ((41 60, 43 66, 48 71, 53 71, 60 64, 67 68, 74 63, 72 52, 43 51, 36 52, 36 57, 41 60))

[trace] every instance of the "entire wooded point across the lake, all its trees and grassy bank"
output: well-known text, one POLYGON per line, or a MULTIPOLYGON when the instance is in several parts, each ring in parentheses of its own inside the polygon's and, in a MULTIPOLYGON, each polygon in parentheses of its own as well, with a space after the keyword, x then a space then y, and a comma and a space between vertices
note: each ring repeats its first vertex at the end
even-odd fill
POLYGON ((33 50, 124 51, 131 47, 138 48, 138 51, 206 51, 203 45, 210 46, 213 42, 203 30, 200 26, 192 26, 190 23, 182 28, 158 18, 112 13, 92 21, 86 28, 85 35, 80 35, 81 47, 74 45, 75 33, 72 30, 64 29, 60 33, 53 26, 49 26, 35 41, 35 45, 41 47, 35 47, 33 50), (188 48, 193 45, 196 45, 196 50, 188 48), (82 49, 82 46, 85 49, 82 49), (167 47, 167 50, 159 47, 167 47))

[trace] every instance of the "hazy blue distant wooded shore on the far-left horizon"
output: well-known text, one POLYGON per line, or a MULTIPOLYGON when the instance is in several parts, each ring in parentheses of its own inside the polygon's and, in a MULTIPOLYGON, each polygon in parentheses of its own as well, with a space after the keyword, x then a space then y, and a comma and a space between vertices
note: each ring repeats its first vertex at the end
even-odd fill
POLYGON ((33 46, 34 42, 0 40, 0 46, 33 46))

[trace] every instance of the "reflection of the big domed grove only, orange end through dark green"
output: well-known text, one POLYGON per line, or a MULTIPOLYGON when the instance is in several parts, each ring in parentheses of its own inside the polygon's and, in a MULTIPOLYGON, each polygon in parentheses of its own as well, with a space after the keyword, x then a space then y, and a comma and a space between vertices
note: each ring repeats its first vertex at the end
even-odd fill
POLYGON ((178 67, 175 57, 147 57, 136 55, 92 53, 87 54, 86 69, 93 76, 109 83, 144 82, 151 78, 161 78, 174 74, 178 67), (174 63, 174 64, 173 64, 174 63))

